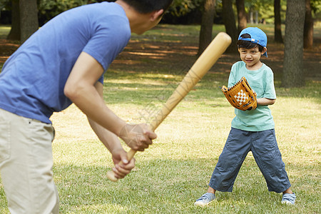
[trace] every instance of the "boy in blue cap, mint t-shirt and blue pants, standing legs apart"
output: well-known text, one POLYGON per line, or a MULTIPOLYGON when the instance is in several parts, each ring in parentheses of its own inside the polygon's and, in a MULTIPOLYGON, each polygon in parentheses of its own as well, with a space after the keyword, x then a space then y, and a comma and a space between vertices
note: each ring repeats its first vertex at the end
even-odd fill
POLYGON ((275 139, 275 124, 268 105, 275 103, 276 95, 272 70, 260 61, 267 57, 267 36, 258 28, 247 28, 238 37, 240 59, 233 64, 228 87, 245 76, 257 93, 258 107, 252 111, 235 108, 235 118, 228 139, 213 171, 207 193, 195 205, 208 205, 215 200, 215 192, 232 192, 240 167, 252 151, 269 191, 283 193, 282 203, 295 204, 295 193, 285 172, 281 153, 275 139))

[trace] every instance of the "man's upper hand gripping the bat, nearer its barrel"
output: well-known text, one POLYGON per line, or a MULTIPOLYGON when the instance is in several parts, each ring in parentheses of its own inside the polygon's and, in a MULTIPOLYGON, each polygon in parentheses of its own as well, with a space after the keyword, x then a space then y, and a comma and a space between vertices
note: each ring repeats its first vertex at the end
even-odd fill
POLYGON ((157 138, 156 133, 151 131, 147 124, 126 124, 121 129, 119 137, 135 151, 144 151, 157 138))

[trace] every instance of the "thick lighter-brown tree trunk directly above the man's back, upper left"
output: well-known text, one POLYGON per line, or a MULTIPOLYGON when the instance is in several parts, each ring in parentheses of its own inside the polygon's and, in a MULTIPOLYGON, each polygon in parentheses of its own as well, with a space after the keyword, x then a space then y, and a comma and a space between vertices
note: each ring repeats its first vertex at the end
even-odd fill
POLYGON ((20 9, 20 41, 23 43, 39 29, 36 0, 19 0, 20 9))

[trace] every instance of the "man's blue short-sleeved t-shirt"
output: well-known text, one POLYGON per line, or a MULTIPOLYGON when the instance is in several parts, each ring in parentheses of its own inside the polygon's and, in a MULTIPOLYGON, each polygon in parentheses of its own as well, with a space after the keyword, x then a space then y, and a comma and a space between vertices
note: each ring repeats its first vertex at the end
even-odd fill
MULTIPOLYGON (((106 71, 131 37, 123 8, 115 3, 88 4, 65 11, 33 34, 4 63, 0 108, 44 123, 71 105, 66 80, 82 51, 106 71)), ((99 78, 103 83, 103 76, 99 78)))

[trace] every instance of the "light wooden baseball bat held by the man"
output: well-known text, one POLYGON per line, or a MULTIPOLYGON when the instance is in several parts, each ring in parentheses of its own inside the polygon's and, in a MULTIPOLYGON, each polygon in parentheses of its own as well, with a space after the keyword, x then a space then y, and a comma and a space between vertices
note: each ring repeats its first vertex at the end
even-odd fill
MULTIPOLYGON (((200 81, 201 78, 205 75, 205 73, 210 70, 210 68, 214 65, 218 58, 222 56, 224 51, 228 48, 231 43, 230 36, 223 32, 220 32, 215 39, 208 45, 208 47, 203 51, 203 54, 200 55, 197 61, 190 68, 188 73, 183 78, 183 81, 180 82, 178 87, 175 89, 173 94, 168 98, 166 103, 163 105, 160 111, 153 117, 149 126, 152 131, 155 131, 156 128, 161 124, 161 122, 168 116, 170 111, 172 111, 175 106, 180 103, 180 101, 188 94, 190 90, 194 88, 196 83, 200 81)), ((131 149, 127 156, 128 161, 130 161, 133 156, 135 156, 136 151, 131 149)), ((115 177, 115 173, 113 171, 109 171, 107 173, 107 177, 109 180, 117 181, 118 178, 115 177)))

